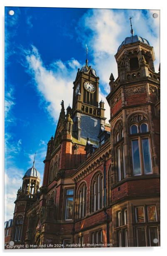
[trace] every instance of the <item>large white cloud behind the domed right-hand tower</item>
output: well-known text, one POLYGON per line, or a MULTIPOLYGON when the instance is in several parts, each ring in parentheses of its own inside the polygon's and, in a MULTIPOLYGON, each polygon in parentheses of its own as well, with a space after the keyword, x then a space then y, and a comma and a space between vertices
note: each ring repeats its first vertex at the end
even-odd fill
MULTIPOLYGON (((154 11, 155 12, 155 11, 154 11)), ((159 12, 156 11, 158 14, 159 12)), ((119 45, 130 36, 129 16, 133 16, 135 34, 148 39, 155 51, 155 71, 160 62, 159 19, 152 17, 153 11, 142 10, 88 10, 79 22, 76 31, 83 47, 88 45, 89 54, 93 57, 93 67, 100 77, 101 86, 109 93, 109 77, 111 72, 115 79, 118 76, 114 55, 119 45)), ((88 54, 88 55, 89 55, 88 54)))

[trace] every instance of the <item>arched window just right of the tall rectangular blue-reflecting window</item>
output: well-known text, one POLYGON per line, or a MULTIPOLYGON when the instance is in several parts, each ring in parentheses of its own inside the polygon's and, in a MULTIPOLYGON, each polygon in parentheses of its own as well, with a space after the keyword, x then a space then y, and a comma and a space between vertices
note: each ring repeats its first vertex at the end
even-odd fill
POLYGON ((86 216, 86 183, 82 183, 77 194, 77 218, 86 216))

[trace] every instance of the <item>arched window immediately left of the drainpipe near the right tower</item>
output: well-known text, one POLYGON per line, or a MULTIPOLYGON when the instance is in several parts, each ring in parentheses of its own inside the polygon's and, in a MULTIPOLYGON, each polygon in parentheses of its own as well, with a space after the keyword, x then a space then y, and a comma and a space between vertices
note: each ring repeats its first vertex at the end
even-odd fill
POLYGON ((91 211, 103 208, 103 174, 98 172, 91 182, 91 211))

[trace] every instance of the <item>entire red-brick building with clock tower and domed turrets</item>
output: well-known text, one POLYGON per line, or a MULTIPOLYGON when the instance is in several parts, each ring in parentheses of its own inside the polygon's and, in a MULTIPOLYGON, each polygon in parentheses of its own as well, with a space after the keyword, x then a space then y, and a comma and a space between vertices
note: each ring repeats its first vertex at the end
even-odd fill
POLYGON ((99 77, 78 69, 73 105, 47 145, 44 177, 34 163, 17 193, 11 239, 29 248, 160 246, 160 70, 131 30, 110 76, 106 124, 99 77))

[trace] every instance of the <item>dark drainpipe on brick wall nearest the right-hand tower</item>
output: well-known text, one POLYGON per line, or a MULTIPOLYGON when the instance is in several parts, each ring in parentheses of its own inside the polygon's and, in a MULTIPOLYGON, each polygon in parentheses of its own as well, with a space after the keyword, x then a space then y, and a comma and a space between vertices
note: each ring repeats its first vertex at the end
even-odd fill
POLYGON ((109 244, 110 244, 110 227, 109 227, 109 216, 107 214, 107 211, 106 211, 106 160, 103 160, 103 173, 104 173, 104 214, 106 215, 106 228, 107 228, 107 247, 110 247, 109 244))

